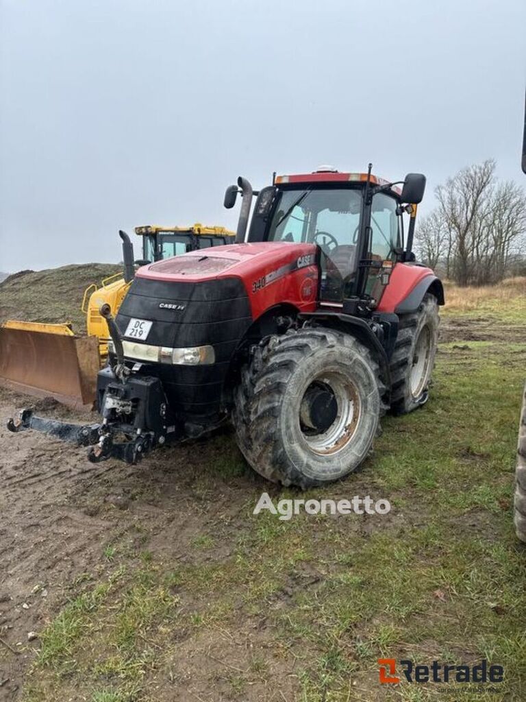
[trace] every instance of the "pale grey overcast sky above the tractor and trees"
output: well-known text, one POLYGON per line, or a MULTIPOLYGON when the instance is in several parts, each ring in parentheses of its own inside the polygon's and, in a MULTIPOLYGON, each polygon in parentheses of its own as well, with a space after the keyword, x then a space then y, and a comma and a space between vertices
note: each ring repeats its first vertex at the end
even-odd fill
MULTIPOLYGON (((525 0, 0 0, 0 271, 320 164, 522 182, 525 0)), ((134 237, 135 238, 135 237, 134 237)))

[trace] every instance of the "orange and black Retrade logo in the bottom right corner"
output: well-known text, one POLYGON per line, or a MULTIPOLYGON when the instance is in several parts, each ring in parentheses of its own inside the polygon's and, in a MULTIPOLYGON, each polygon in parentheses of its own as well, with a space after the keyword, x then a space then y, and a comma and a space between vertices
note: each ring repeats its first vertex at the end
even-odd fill
MULTIPOLYGON (((378 658, 379 680, 396 684, 401 678, 396 675, 395 658, 378 658)), ((413 661, 398 661, 400 675, 407 682, 502 682, 502 665, 488 665, 480 661, 477 665, 445 665, 433 661, 431 665, 414 665, 413 661)))

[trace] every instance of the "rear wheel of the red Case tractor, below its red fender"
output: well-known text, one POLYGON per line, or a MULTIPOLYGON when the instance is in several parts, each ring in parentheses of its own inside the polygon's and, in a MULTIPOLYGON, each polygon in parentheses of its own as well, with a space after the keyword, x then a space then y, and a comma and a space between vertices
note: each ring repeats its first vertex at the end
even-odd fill
POLYGON ((416 312, 400 314, 391 357, 391 409, 411 412, 427 401, 438 343, 438 302, 427 293, 416 312))

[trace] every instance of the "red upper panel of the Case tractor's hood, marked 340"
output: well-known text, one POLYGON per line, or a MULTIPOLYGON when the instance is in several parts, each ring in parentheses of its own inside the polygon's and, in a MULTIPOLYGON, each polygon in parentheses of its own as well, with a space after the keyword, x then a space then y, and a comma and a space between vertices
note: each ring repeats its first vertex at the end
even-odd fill
POLYGON ((283 241, 216 246, 150 263, 137 270, 137 277, 196 284, 239 278, 255 319, 280 304, 313 310, 318 289, 316 246, 283 241))

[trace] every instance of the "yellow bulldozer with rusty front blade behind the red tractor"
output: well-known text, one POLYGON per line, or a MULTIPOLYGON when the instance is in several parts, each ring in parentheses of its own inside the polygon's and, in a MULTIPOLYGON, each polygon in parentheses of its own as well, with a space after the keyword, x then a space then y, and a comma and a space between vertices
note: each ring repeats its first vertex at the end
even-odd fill
POLYGON ((45 324, 9 320, 0 324, 0 383, 41 397, 52 396, 72 406, 95 399, 97 371, 106 362, 109 330, 100 314, 109 305, 116 314, 135 276, 135 268, 179 256, 187 251, 232 244, 236 234, 224 227, 135 227, 142 239, 142 258, 135 260, 133 244, 119 232, 123 273, 93 283, 84 291, 82 311, 87 336, 76 336, 69 323, 45 324))

